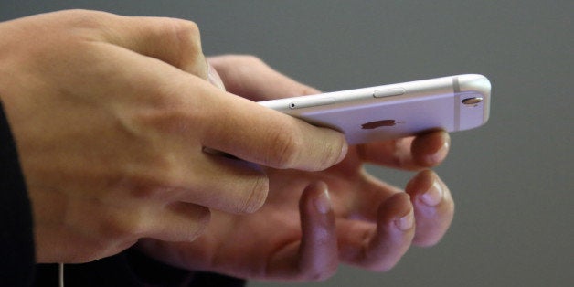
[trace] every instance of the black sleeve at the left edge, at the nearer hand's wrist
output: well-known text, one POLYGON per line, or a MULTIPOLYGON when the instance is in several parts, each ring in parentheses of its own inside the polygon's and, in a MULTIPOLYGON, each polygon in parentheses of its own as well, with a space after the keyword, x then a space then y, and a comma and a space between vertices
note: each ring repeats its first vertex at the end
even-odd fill
POLYGON ((0 102, 0 285, 29 286, 34 277, 34 234, 16 144, 0 102))

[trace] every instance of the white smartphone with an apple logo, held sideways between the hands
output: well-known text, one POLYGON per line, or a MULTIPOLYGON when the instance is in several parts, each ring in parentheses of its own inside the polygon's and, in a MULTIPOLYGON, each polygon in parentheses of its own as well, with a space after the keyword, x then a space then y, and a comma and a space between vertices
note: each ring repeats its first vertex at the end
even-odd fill
POLYGON ((356 144, 481 126, 488 120, 490 93, 486 77, 466 74, 259 103, 338 130, 356 144))

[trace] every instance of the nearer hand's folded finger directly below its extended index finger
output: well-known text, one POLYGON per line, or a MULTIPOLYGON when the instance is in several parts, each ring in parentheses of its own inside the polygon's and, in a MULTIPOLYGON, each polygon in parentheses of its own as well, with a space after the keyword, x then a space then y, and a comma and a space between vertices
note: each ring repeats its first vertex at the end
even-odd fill
POLYGON ((204 153, 173 161, 138 167, 154 168, 134 170, 137 175, 124 186, 137 198, 193 203, 233 214, 252 213, 265 202, 269 179, 259 165, 204 153))

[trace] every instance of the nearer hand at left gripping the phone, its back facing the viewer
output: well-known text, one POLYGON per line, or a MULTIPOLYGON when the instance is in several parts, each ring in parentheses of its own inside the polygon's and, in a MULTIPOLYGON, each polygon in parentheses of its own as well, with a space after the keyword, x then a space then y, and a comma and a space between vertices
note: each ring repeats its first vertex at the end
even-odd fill
POLYGON ((191 22, 65 11, 2 23, 0 35, 38 262, 195 239, 209 208, 263 204, 258 165, 315 171, 345 156, 342 134, 207 82, 191 22))

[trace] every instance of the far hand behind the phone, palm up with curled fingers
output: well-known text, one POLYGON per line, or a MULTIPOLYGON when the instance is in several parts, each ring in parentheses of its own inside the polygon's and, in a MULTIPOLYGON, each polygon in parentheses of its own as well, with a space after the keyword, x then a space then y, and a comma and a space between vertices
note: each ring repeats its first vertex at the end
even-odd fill
MULTIPOLYGON (((210 62, 229 91, 254 101, 317 93, 256 58, 210 62)), ((450 191, 427 170, 449 143, 447 133, 433 132, 350 147, 343 162, 321 172, 266 168, 270 194, 258 212, 214 212, 194 242, 143 239, 139 247, 175 266, 250 279, 320 280, 340 263, 387 271, 411 244, 433 245, 451 224, 450 191), (368 175, 367 162, 421 171, 404 192, 368 175)))

